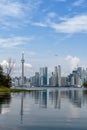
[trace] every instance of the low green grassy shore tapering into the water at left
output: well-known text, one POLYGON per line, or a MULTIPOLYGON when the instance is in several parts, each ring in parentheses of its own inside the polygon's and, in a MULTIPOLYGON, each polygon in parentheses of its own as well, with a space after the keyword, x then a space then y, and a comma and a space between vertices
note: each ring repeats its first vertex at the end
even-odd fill
POLYGON ((30 92, 30 90, 0 87, 0 92, 30 92))

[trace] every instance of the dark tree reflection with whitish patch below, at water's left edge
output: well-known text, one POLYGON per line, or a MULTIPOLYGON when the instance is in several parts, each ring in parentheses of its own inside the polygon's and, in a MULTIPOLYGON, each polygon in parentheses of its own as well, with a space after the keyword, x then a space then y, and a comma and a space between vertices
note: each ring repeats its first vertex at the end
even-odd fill
POLYGON ((11 102, 10 93, 0 93, 0 114, 9 112, 9 105, 11 102))

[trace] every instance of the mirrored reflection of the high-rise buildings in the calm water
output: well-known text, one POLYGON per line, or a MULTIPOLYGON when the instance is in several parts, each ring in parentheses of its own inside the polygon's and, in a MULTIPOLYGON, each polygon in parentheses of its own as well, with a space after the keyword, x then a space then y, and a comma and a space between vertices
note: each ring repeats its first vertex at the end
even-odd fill
POLYGON ((81 108, 83 92, 79 90, 44 90, 32 92, 35 104, 39 104, 41 108, 47 108, 51 103, 55 109, 61 109, 61 101, 69 99, 72 105, 81 108))

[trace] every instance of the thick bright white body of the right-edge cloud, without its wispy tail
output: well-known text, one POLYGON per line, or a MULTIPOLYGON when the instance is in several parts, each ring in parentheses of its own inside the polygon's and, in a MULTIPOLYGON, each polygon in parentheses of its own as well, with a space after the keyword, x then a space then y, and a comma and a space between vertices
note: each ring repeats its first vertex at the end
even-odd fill
POLYGON ((50 23, 49 26, 61 33, 87 32, 87 15, 74 16, 61 23, 50 23))

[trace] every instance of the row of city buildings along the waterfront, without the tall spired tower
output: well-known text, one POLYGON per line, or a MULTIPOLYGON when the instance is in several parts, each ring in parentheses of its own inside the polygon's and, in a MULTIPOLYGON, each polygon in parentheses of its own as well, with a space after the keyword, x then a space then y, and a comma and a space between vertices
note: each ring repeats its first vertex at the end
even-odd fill
POLYGON ((84 82, 87 81, 87 68, 77 67, 67 76, 62 75, 62 68, 60 65, 54 66, 54 70, 49 74, 47 66, 40 67, 33 76, 14 77, 12 84, 15 87, 83 87, 84 82))

